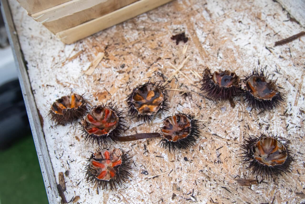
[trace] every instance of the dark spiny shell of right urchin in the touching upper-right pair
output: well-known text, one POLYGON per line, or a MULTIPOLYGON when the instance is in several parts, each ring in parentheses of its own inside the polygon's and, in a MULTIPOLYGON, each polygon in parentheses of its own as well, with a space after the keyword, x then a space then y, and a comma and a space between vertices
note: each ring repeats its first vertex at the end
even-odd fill
MULTIPOLYGON (((260 70, 258 68, 253 69, 252 73, 246 75, 246 78, 243 81, 246 82, 252 76, 261 76, 267 78, 267 73, 266 75, 264 74, 265 68, 266 67, 261 68, 260 70)), ((280 89, 280 87, 278 87, 278 89, 280 89)), ((280 91, 278 91, 275 96, 271 98, 271 100, 259 99, 253 96, 253 94, 251 94, 250 91, 246 89, 246 87, 242 90, 240 95, 244 97, 244 102, 246 102, 249 107, 253 107, 261 111, 270 111, 278 107, 282 102, 285 102, 285 94, 280 91)))

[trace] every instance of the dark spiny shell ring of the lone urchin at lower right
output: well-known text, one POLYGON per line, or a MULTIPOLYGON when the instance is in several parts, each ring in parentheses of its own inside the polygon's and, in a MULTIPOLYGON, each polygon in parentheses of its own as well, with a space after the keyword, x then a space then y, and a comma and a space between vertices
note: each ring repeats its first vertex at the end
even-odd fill
POLYGON ((249 164, 246 169, 251 169, 252 175, 257 175, 262 178, 269 178, 277 175, 282 175, 282 173, 289 173, 291 172, 291 162, 295 161, 295 159, 291 155, 291 151, 288 148, 288 143, 285 140, 279 140, 277 135, 273 135, 269 133, 269 136, 266 136, 264 133, 260 133, 259 137, 256 136, 249 136, 246 140, 243 141, 243 144, 240 145, 242 150, 242 157, 243 164, 249 164), (262 137, 273 137, 274 139, 278 140, 282 145, 285 146, 287 151, 287 157, 283 164, 278 164, 275 166, 267 166, 261 164, 254 158, 253 153, 253 145, 257 143, 257 141, 262 137))

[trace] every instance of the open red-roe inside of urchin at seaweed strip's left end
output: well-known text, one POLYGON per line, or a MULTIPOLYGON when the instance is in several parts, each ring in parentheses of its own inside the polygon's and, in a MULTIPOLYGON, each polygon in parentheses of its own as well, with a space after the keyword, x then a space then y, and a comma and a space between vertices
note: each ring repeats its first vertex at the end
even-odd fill
POLYGON ((104 135, 117 127, 119 117, 110 108, 96 107, 85 117, 85 129, 88 133, 104 135))

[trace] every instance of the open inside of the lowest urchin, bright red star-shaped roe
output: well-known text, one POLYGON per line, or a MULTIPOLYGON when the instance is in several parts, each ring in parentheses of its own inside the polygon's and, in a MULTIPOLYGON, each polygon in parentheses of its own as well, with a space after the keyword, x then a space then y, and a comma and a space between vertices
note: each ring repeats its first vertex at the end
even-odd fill
POLYGON ((94 172, 98 179, 110 180, 116 175, 117 168, 122 163, 122 154, 117 148, 97 152, 90 161, 90 172, 94 172))

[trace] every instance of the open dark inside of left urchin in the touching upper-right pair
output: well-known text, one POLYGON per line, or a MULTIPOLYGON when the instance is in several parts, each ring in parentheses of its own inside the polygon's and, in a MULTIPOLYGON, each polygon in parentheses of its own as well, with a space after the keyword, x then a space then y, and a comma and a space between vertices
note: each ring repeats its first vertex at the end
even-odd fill
POLYGON ((215 84, 224 87, 238 86, 239 83, 239 77, 234 72, 228 70, 221 72, 215 71, 212 79, 215 84))

